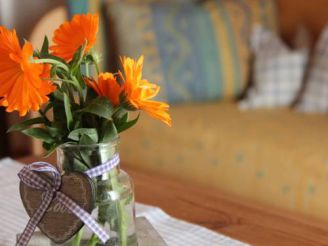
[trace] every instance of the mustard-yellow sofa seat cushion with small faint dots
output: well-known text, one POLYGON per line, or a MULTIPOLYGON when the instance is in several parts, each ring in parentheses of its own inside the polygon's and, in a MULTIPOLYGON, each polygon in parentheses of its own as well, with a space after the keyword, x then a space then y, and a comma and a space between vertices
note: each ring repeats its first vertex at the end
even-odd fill
MULTIPOLYGON (((233 103, 177 106, 168 128, 142 115, 123 162, 328 219, 328 117, 233 103)), ((156 184, 154 184, 156 185, 156 184)))

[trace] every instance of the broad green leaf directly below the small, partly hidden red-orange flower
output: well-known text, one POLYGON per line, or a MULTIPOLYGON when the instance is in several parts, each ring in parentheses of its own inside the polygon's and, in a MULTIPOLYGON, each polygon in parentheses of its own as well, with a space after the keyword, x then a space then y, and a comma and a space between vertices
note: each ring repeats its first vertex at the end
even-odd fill
POLYGON ((79 110, 79 112, 90 113, 107 120, 111 120, 113 114, 113 106, 106 97, 97 97, 92 100, 85 108, 79 110))

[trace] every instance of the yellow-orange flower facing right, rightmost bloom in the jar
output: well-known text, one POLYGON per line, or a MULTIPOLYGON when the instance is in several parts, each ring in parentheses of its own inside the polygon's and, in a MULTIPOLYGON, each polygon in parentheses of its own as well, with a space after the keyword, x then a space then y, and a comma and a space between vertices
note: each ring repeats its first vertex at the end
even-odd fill
POLYGON ((160 87, 142 79, 143 56, 137 61, 123 57, 121 62, 124 75, 122 72, 119 74, 124 81, 123 88, 126 100, 135 108, 143 110, 153 118, 171 126, 171 117, 167 112, 169 105, 150 100, 158 94, 160 87))

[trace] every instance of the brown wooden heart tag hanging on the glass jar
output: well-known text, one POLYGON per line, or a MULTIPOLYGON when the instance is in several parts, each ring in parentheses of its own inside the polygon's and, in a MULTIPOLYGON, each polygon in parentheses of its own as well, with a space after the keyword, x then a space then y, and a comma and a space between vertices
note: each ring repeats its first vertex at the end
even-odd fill
MULTIPOLYGON (((48 175, 40 174, 43 178, 48 175)), ((85 174, 71 172, 62 176, 60 191, 75 201, 86 212, 91 213, 94 206, 94 185, 92 180, 85 174)), ((39 208, 42 200, 42 191, 30 188, 20 182, 20 195, 25 210, 32 217, 39 208)), ((71 211, 66 209, 56 198, 41 219, 38 227, 55 243, 64 243, 74 236, 83 226, 83 222, 71 211)))

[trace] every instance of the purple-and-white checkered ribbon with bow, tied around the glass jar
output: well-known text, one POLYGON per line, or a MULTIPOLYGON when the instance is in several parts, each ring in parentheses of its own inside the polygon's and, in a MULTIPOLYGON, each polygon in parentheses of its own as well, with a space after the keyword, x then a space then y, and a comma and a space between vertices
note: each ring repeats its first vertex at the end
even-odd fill
MULTIPOLYGON (((116 154, 108 162, 89 169, 85 173, 90 177, 96 177, 102 175, 114 167, 116 167, 120 162, 119 155, 116 154)), ((18 177, 27 186, 41 190, 45 194, 41 205, 33 214, 29 220, 27 226, 25 227, 23 233, 18 239, 16 246, 26 246, 30 241, 36 226, 39 224, 40 220, 44 216, 48 207, 50 206, 54 197, 72 213, 74 213, 85 225, 87 225, 103 242, 106 243, 109 240, 107 233, 97 224, 97 222, 82 209, 78 204, 76 204, 72 199, 66 196, 64 193, 59 191, 61 185, 61 175, 58 170, 47 162, 35 162, 30 165, 25 166, 19 173, 18 177), (37 172, 47 172, 52 175, 51 183, 48 180, 41 178, 37 172)))

